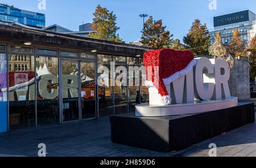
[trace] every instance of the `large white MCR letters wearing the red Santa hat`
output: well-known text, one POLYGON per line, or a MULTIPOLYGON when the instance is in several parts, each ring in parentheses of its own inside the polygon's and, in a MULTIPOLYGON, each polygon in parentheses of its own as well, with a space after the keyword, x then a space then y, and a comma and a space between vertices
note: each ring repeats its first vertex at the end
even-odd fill
MULTIPOLYGON (((172 104, 199 100, 221 100, 230 98, 230 70, 227 62, 221 59, 195 58, 196 64, 187 75, 166 85, 172 104)), ((150 105, 164 105, 155 87, 149 88, 150 105)))

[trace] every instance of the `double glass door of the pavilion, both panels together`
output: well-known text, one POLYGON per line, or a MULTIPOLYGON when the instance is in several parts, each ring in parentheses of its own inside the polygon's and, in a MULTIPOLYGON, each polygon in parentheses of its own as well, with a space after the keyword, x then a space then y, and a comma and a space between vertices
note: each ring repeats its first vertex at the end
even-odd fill
POLYGON ((61 60, 63 122, 97 117, 96 63, 61 60))

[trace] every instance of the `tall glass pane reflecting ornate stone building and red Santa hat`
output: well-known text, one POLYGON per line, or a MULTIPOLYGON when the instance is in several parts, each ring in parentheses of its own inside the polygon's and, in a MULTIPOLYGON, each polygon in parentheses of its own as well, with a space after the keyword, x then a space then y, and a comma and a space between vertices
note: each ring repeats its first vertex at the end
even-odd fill
POLYGON ((10 129, 35 126, 35 57, 14 54, 9 57, 10 129))

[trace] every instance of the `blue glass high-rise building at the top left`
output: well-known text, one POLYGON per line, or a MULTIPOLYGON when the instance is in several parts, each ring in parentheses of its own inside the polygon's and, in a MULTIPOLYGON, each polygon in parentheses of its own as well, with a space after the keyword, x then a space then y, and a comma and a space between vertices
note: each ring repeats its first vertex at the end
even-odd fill
POLYGON ((44 28, 46 27, 46 15, 20 10, 14 6, 0 3, 0 23, 20 23, 31 27, 44 28))

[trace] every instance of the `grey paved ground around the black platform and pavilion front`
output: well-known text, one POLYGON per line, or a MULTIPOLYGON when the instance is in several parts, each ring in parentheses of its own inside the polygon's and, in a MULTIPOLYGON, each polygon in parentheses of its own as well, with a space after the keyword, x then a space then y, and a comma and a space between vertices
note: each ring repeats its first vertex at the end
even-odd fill
POLYGON ((256 156, 256 124, 238 128, 176 153, 160 153, 110 141, 109 118, 0 135, 0 156, 38 156, 38 144, 46 144, 47 156, 208 156, 209 144, 217 145, 217 156, 256 156))

